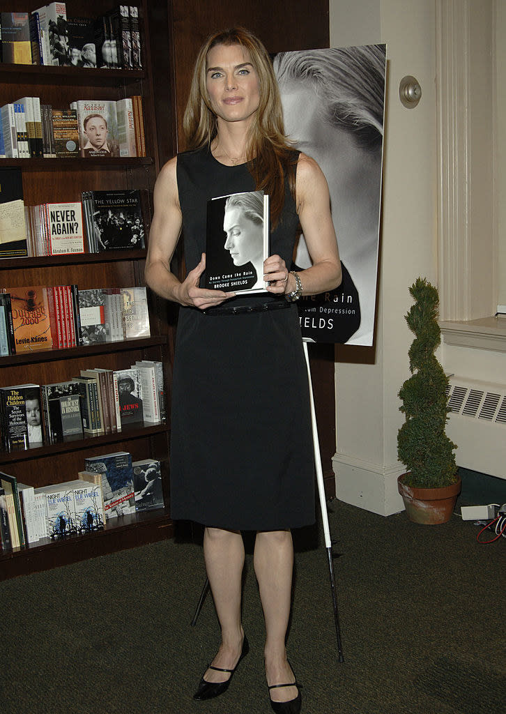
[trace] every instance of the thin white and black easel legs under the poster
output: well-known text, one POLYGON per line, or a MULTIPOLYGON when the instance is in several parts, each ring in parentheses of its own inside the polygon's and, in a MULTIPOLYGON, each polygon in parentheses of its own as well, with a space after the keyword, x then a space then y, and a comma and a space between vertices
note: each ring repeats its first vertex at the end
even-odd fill
MULTIPOLYGON (((334 565, 332 556, 332 541, 330 540, 330 528, 328 525, 328 513, 327 513, 327 501, 325 498, 325 486, 323 485, 323 470, 321 464, 320 456, 320 440, 318 438, 318 427, 316 424, 316 412, 315 412, 315 401, 313 399, 313 382, 311 381, 311 370, 309 365, 308 356, 308 343, 303 338, 303 350, 305 357, 305 365, 308 370, 308 382, 309 382, 309 398, 311 406, 311 425, 313 427, 313 448, 315 454, 315 471, 316 471, 316 483, 318 483, 318 496, 320 498, 320 509, 323 521, 323 534, 325 536, 325 548, 327 549, 328 558, 328 573, 330 576, 330 590, 332 593, 332 605, 334 610, 334 623, 335 623, 335 636, 338 640, 338 658, 340 662, 344 662, 343 647, 341 645, 341 635, 339 627, 339 615, 338 615, 338 599, 335 592, 335 577, 334 577, 334 565)), ((202 588, 201 597, 198 600, 198 604, 193 615, 193 620, 191 620, 191 625, 196 625, 198 615, 201 612, 202 605, 206 599, 206 595, 209 591, 209 579, 206 578, 206 583, 202 588)))

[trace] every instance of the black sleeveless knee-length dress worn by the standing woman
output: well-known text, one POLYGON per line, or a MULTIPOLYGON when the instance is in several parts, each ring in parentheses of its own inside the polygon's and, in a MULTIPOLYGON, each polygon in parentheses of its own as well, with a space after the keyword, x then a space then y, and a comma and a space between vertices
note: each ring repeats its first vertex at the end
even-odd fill
MULTIPOLYGON (((178 155, 186 269, 206 250, 209 198, 254 191, 246 165, 208 149, 178 155)), ((288 185, 270 254, 290 266, 298 216, 288 185)), ((220 306, 285 300, 237 296, 220 306)), ((231 530, 315 521, 308 376, 295 305, 228 315, 182 307, 171 422, 171 516, 231 530)))

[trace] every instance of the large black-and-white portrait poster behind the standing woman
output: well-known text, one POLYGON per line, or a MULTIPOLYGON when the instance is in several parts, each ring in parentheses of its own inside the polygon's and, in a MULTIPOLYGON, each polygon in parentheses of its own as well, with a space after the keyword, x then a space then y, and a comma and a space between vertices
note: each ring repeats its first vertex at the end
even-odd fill
MULTIPOLYGON (((299 301, 305 338, 373 344, 380 231, 384 44, 282 52, 274 70, 285 131, 318 161, 330 190, 343 282, 299 301)), ((295 268, 308 268, 303 235, 295 268)))

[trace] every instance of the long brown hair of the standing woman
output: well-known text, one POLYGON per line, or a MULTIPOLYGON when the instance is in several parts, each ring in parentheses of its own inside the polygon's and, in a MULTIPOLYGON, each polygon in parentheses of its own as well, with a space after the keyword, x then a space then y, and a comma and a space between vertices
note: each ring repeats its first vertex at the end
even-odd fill
POLYGON ((295 196, 295 155, 285 137, 283 107, 273 64, 260 40, 243 27, 211 34, 198 53, 183 116, 187 148, 211 146, 216 137, 218 124, 207 91, 206 59, 213 47, 234 44, 241 45, 248 52, 258 74, 260 104, 249 129, 246 159, 255 189, 270 196, 270 219, 272 226, 275 226, 283 209, 287 174, 290 191, 295 196))

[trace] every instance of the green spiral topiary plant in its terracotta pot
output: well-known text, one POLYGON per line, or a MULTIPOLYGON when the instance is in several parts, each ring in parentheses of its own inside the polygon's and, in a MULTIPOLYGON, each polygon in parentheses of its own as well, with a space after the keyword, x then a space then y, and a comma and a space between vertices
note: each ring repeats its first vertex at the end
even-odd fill
POLYGON ((405 320, 415 339, 410 346, 411 376, 400 388, 405 422, 398 432, 399 460, 408 468, 398 489, 411 521, 445 523, 460 493, 455 448, 445 433, 448 378, 435 350, 441 341, 437 323, 439 296, 425 278, 410 287, 415 303, 405 320))

